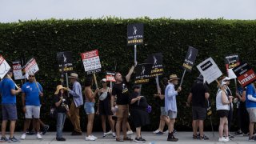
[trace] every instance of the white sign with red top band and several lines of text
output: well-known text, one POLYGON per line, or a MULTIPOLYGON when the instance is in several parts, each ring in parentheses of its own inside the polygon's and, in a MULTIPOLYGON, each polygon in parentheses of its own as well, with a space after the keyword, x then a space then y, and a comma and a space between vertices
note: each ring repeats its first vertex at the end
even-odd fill
POLYGON ((82 53, 81 56, 87 74, 94 74, 101 71, 102 65, 98 56, 98 50, 82 53))

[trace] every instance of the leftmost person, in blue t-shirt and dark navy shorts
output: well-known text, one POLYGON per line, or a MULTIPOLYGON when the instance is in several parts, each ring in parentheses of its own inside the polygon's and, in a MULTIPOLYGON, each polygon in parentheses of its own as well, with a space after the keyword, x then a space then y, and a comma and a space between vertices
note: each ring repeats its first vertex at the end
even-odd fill
POLYGON ((0 94, 2 96, 2 138, 1 142, 7 142, 6 138, 6 124, 10 120, 10 142, 18 142, 14 137, 15 123, 17 117, 16 95, 22 91, 21 88, 15 89, 15 83, 11 79, 13 76, 12 70, 2 78, 0 82, 0 94))

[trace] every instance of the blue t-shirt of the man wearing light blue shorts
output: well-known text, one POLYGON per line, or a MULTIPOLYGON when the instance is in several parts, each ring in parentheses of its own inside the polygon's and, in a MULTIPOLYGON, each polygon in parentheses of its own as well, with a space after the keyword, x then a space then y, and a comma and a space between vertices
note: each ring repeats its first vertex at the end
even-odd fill
POLYGON ((39 90, 42 92, 42 86, 38 83, 38 87, 35 82, 26 82, 22 86, 22 93, 26 94, 26 106, 40 106, 39 90))

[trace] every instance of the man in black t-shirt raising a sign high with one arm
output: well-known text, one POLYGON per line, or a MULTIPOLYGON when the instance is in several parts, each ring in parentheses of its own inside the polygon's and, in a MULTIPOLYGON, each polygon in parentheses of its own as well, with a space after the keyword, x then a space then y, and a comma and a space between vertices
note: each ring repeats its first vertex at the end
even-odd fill
POLYGON ((114 78, 116 83, 113 86, 112 90, 112 98, 111 98, 111 110, 114 111, 114 98, 117 97, 117 106, 118 110, 116 115, 118 117, 118 122, 116 124, 116 141, 131 141, 131 138, 127 137, 126 134, 126 122, 129 113, 129 91, 127 88, 127 83, 130 81, 130 75, 134 71, 134 66, 130 68, 129 73, 126 75, 126 78, 122 79, 122 74, 116 73, 114 78), (122 124, 122 133, 123 133, 123 140, 120 138, 120 130, 122 124))

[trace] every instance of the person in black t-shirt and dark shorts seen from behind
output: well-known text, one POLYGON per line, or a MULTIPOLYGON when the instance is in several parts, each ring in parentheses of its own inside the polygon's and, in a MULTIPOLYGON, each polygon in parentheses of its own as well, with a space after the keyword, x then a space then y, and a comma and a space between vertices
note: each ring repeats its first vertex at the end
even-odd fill
POLYGON ((196 82, 192 86, 186 102, 186 105, 190 106, 190 102, 192 101, 192 126, 194 139, 209 139, 208 137, 206 137, 206 135, 203 134, 203 121, 206 119, 206 100, 209 98, 209 96, 209 88, 203 82, 203 76, 202 74, 200 74, 196 82))

